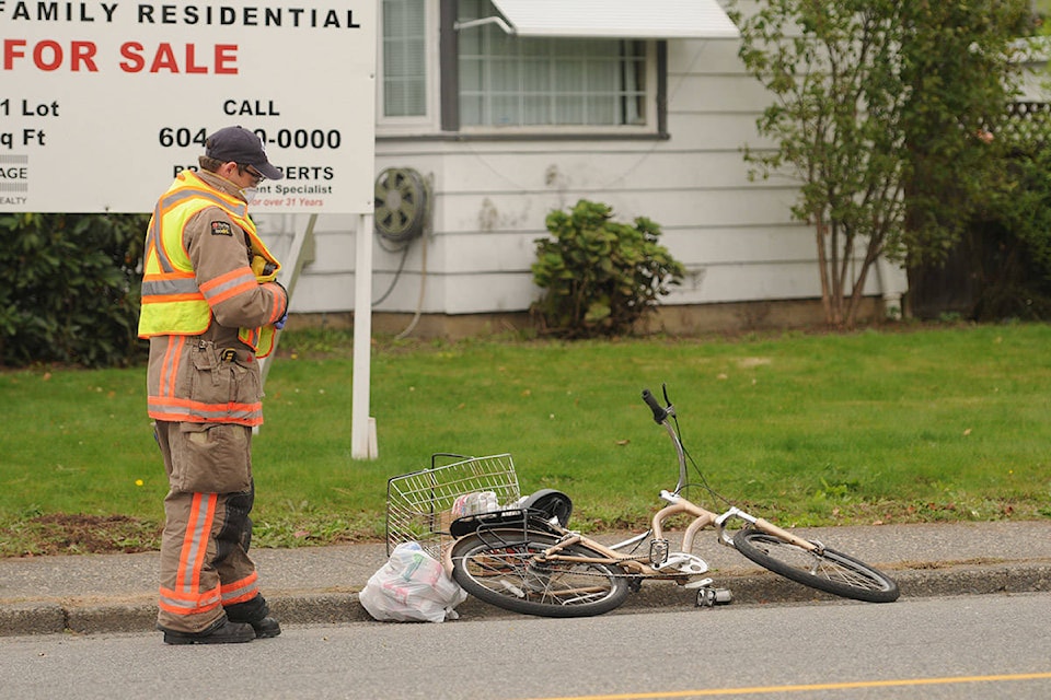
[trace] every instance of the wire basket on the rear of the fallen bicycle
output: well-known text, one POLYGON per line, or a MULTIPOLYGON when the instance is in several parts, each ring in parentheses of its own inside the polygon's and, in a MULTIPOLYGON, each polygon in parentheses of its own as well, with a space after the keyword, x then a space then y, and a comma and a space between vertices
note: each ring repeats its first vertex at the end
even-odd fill
MULTIPOLYGON (((451 541, 449 525, 458 499, 471 494, 495 494, 499 506, 516 503, 521 494, 511 455, 464 457, 436 454, 431 467, 392 477, 386 482, 386 553, 407 541, 419 542, 436 559, 451 541), (459 459, 436 466, 437 459, 459 459)), ((462 501, 461 501, 462 502, 462 501)))

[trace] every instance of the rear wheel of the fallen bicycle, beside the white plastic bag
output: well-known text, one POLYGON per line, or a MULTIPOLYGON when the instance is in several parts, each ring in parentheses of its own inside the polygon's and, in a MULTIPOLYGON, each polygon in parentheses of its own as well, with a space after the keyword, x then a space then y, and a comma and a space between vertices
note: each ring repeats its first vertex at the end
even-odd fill
MULTIPOLYGON (((627 597, 627 579, 616 565, 588 561, 538 560, 557 544, 551 535, 522 529, 487 529, 452 547, 452 576, 490 605, 541 617, 590 617, 627 597)), ((582 545, 558 552, 576 559, 604 559, 582 545)))

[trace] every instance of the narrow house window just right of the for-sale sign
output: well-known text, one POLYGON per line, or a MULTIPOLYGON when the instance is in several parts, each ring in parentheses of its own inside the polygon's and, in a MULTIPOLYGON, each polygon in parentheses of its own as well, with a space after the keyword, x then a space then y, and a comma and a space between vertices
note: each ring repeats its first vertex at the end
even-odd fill
POLYGON ((427 114, 425 0, 383 0, 383 116, 427 114))

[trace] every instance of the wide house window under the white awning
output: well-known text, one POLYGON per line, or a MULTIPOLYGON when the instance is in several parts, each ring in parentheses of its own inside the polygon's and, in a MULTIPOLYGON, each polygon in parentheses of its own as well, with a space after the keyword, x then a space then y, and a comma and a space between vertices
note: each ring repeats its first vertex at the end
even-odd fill
MULTIPOLYGON (((457 21, 499 16, 489 0, 459 0, 457 21)), ((499 25, 457 33, 460 128, 646 127, 647 43, 518 37, 499 25)))

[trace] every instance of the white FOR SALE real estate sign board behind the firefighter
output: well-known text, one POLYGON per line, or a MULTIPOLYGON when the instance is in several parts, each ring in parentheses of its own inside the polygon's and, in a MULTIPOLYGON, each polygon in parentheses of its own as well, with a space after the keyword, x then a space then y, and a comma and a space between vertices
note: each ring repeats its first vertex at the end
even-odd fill
POLYGON ((0 0, 0 212, 148 212, 258 133, 252 213, 371 213, 377 0, 0 0))

